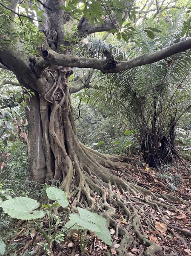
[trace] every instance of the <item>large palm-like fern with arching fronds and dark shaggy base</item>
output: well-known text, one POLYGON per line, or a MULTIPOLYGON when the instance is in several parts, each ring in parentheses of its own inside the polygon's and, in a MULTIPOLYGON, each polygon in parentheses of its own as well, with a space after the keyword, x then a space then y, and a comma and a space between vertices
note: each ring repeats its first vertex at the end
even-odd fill
MULTIPOLYGON (((131 57, 152 54, 186 40, 180 31, 178 20, 175 20, 174 23, 169 23, 165 31, 168 40, 164 40, 162 35, 152 40, 144 32, 140 32, 137 35, 137 47, 131 51, 131 57)), ((90 50, 88 54, 91 52, 90 50)), ((128 58, 127 55, 124 56, 128 58)), ((123 55, 116 55, 116 58, 121 60, 123 55)), ((134 136, 149 166, 169 164, 176 154, 175 127, 182 114, 191 107, 187 85, 190 69, 191 51, 181 52, 154 64, 121 73, 99 73, 97 86, 87 89, 85 94, 78 93, 77 96, 88 104, 109 111, 127 125, 129 130, 135 131, 134 136)))

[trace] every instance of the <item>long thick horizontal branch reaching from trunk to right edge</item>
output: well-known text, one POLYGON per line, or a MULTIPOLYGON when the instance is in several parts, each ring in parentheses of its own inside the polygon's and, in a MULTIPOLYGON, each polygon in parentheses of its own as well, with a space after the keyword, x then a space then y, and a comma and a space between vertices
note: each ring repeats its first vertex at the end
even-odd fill
POLYGON ((102 71, 103 73, 118 73, 120 71, 129 70, 133 67, 143 66, 160 61, 179 52, 183 52, 191 48, 191 39, 173 44, 165 49, 152 54, 143 54, 128 61, 111 61, 100 60, 95 58, 83 58, 74 55, 63 55, 52 50, 43 50, 43 58, 36 61, 34 72, 37 76, 41 76, 43 71, 49 65, 57 65, 62 67, 79 67, 92 68, 102 71))

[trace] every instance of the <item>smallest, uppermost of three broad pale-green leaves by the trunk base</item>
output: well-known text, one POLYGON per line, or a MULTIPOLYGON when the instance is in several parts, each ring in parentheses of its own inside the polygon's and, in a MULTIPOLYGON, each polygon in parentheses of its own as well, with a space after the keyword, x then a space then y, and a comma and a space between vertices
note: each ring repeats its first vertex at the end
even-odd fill
POLYGON ((69 202, 66 193, 55 187, 48 187, 46 189, 46 195, 49 199, 57 201, 62 207, 67 207, 69 202))

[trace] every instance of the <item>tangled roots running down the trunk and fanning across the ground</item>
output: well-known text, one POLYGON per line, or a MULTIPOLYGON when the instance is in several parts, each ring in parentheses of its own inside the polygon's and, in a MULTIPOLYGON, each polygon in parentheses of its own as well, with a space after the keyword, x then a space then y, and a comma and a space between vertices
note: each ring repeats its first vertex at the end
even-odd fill
MULTIPOLYGON (((49 121, 45 115, 50 106, 41 104, 41 118, 45 122, 46 178, 53 178, 54 175, 54 179, 60 179, 60 188, 70 196, 71 212, 80 206, 107 219, 108 227, 114 228, 114 236, 119 238, 119 246, 115 249, 117 255, 132 255, 134 249, 139 250, 140 256, 154 256, 164 250, 160 245, 162 242, 169 244, 165 253, 175 255, 165 232, 177 238, 181 237, 180 234, 191 237, 191 231, 175 227, 170 213, 189 213, 191 202, 140 183, 132 177, 137 166, 122 162, 127 162, 126 157, 108 156, 79 142, 72 116, 68 77, 67 69, 60 70, 57 82, 54 79, 53 86, 44 96, 47 104, 51 104, 49 121), (46 128, 48 122, 49 130, 46 128), (54 170, 51 152, 54 155, 54 170), (180 208, 181 205, 187 207, 180 208), (166 224, 167 231, 157 230, 156 222, 166 224), (158 239, 153 235, 156 233, 158 239)), ((190 218, 189 215, 187 218, 190 218)), ((180 242, 186 244, 186 238, 182 237, 180 242)), ((116 241, 111 248, 114 244, 116 241)), ((111 255, 110 250, 107 255, 111 255)))

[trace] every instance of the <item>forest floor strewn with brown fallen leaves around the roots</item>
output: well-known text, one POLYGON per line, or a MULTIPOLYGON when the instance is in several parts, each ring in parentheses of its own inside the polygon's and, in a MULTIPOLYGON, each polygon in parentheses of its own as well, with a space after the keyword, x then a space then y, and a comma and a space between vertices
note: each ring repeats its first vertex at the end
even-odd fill
MULTIPOLYGON (((131 164, 135 166, 136 159, 131 161, 131 164)), ((156 169, 148 168, 147 166, 138 167, 135 169, 131 169, 131 180, 129 180, 129 175, 125 177, 124 173, 119 171, 112 170, 115 175, 120 177, 123 180, 128 180, 134 182, 138 186, 141 186, 149 191, 156 193, 159 195, 160 202, 165 201, 162 197, 160 198, 160 194, 162 193, 170 193, 171 195, 177 196, 183 200, 191 202, 191 163, 184 160, 178 161, 174 166, 171 167, 171 175, 172 177, 177 177, 180 184, 177 186, 177 190, 174 192, 171 191, 171 181, 165 177, 161 178, 159 176, 159 172, 156 169), (160 177, 160 178, 159 178, 160 177), (180 177, 180 178, 179 178, 180 177)), ((129 171, 129 170, 128 170, 129 171)), ((161 173, 161 172, 160 172, 161 173)), ((115 189, 115 186, 113 186, 115 189)), ((115 191, 121 194, 120 191, 115 191)), ((123 197, 123 195, 120 195, 123 197)), ((125 195, 124 195, 125 196, 125 195)), ((132 195, 131 195, 132 196, 132 195)), ((143 198, 143 193, 137 194, 137 197, 140 197, 140 201, 143 198)), ((149 197, 149 195, 148 195, 149 197)), ((95 200, 99 200, 100 195, 96 195, 95 200)), ((132 201, 129 201, 129 204, 136 204, 132 201)), ((144 228, 146 237, 149 240, 152 240, 154 243, 162 246, 162 252, 156 253, 155 255, 181 255, 181 256, 191 256, 191 237, 187 235, 187 231, 189 234, 191 233, 191 207, 183 204, 180 201, 171 202, 171 205, 176 207, 176 210, 172 209, 164 209, 163 216, 160 214, 157 209, 148 206, 145 204, 143 200, 143 206, 140 207, 140 211, 148 212, 149 214, 154 216, 156 222, 153 226, 148 224, 148 218, 146 214, 143 214, 143 218, 141 218, 142 226, 144 228), (189 214, 185 214, 185 209, 189 214), (164 218, 162 218, 164 217, 164 218), (171 229, 167 228, 171 227, 171 229), (173 227, 176 227, 174 230, 173 227), (180 233, 178 229, 185 230, 185 234, 180 233), (171 252, 174 252, 172 254, 171 252), (171 253, 171 254, 170 254, 171 253)), ((115 206, 114 206, 115 207, 115 206)), ((126 220, 125 216, 122 214, 120 209, 116 209, 116 215, 118 216, 117 222, 121 227, 125 228, 131 220, 126 220)), ((141 212, 140 212, 141 214, 141 212)), ((23 230, 23 224, 18 225, 18 232, 23 230)), ((44 227, 46 223, 44 223, 44 227)), ((27 226, 24 228, 27 229, 27 226)), ((111 236, 112 236, 112 247, 110 248, 108 245, 104 244, 103 241, 97 238, 94 234, 91 234, 92 237, 88 242, 83 254, 80 252, 80 236, 79 234, 73 234, 66 241, 61 242, 60 244, 56 244, 53 249, 53 253, 56 256, 81 256, 81 255, 89 255, 89 256, 102 256, 110 250, 111 255, 117 255, 117 248, 120 246, 121 238, 115 236, 115 230, 112 227, 109 227, 111 236)), ((84 240, 88 239, 88 234, 84 234, 84 240)), ((134 236, 134 234, 132 234, 134 236)), ((134 236, 135 237, 135 236, 134 236)), ((26 254, 26 250, 30 252, 32 247, 35 247, 35 244, 39 242, 40 232, 36 231, 34 236, 31 234, 26 235, 24 232, 17 233, 15 239, 12 239, 12 242, 20 241, 23 243, 23 247, 20 247, 19 253, 17 255, 31 255, 26 254), (32 239, 31 239, 32 237, 32 239), (34 241, 34 238, 36 241, 34 241)), ((41 239, 43 242, 43 239, 41 239)), ((144 255, 144 244, 141 244, 140 241, 137 243, 131 244, 131 247, 128 248, 129 256, 141 256, 144 255)), ((41 247, 42 248, 42 247, 41 247)), ((11 255, 11 254, 9 254, 11 255)), ((34 255, 34 254, 33 254, 34 255)), ((44 254, 35 254, 35 255, 46 255, 44 254)))

